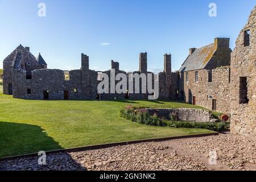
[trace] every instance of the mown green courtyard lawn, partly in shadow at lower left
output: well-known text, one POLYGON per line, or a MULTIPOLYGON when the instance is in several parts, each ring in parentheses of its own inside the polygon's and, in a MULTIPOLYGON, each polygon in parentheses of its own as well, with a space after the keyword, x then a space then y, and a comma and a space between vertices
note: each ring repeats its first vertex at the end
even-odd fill
POLYGON ((80 147, 148 138, 212 133, 139 125, 119 117, 127 104, 192 105, 168 101, 29 101, 2 94, 0 158, 40 150, 80 147))

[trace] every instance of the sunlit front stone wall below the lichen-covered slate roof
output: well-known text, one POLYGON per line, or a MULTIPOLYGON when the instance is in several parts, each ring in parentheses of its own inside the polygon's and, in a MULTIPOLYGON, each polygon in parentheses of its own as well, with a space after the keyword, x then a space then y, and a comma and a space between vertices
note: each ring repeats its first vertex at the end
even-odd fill
POLYGON ((216 100, 216 111, 230 113, 230 67, 212 69, 212 82, 208 80, 208 72, 207 69, 180 72, 180 100, 208 109, 213 109, 213 100, 216 100), (196 72, 198 73, 197 82, 196 72), (188 82, 186 73, 188 73, 188 82), (195 103, 193 103, 193 97, 195 97, 195 103))

